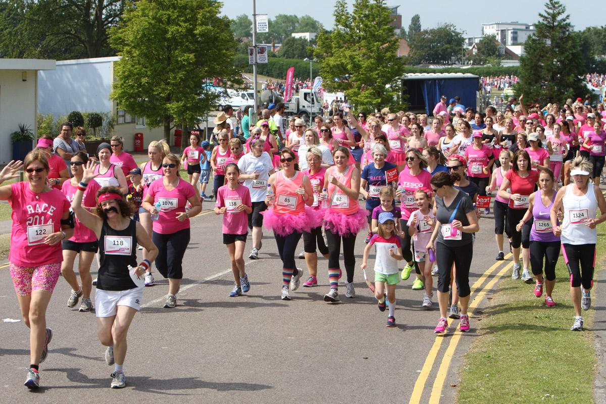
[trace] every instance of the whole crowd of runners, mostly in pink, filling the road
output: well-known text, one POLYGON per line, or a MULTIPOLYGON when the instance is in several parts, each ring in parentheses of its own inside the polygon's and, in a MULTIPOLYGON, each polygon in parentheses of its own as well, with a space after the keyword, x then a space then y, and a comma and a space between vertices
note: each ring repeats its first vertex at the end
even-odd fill
POLYGON ((247 236, 248 258, 263 258, 265 228, 279 251, 281 299, 291 300, 301 283, 327 285, 328 303, 354 298, 355 274, 362 270, 394 327, 396 285, 414 273, 411 288, 421 291, 421 306, 438 302, 435 333, 447 331, 449 318, 468 331, 475 233, 482 216, 493 213, 496 260, 505 258, 507 236, 511 277, 531 283, 529 293, 544 296, 547 306, 556 305, 551 292, 562 251, 574 305, 571 329, 581 331, 582 310, 591 304, 596 225, 606 220, 598 187, 606 111, 580 99, 525 107, 520 98, 505 114, 491 107, 479 113, 445 96, 433 117, 344 107, 330 118, 316 116, 310 127, 299 117, 287 124, 279 112, 275 119, 276 111, 264 111, 245 141, 219 114, 214 148, 195 133, 181 156, 164 141, 151 142, 139 167, 118 137, 99 145, 93 161, 66 122, 54 141, 42 136, 23 162, 0 171, 0 184, 25 171, 25 181, 0 187, 0 199, 12 206, 10 274, 30 328, 25 385, 39 386, 39 365, 53 337, 45 312, 62 274, 72 288, 68 307, 81 301, 79 311, 95 308, 105 361, 114 366, 110 386, 124 387, 127 331, 144 287, 155 283, 152 265, 168 279, 164 308, 175 308, 190 218, 213 198, 233 270, 230 297, 255 286, 244 267, 247 236), (179 175, 184 166, 188 180, 179 175), (356 263, 358 235, 366 247, 356 263), (374 284, 366 273, 371 254, 374 284), (296 256, 306 269, 297 267, 296 256))

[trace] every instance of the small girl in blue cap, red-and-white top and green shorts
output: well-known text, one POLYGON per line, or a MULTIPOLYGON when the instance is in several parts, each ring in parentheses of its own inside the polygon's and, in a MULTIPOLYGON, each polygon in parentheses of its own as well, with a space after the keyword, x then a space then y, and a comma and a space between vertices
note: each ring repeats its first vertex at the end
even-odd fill
POLYGON ((368 265, 368 253, 375 245, 375 297, 379 300, 379 310, 385 311, 385 289, 389 300, 389 316, 387 326, 396 326, 396 285, 400 282, 398 276, 398 261, 402 260, 402 247, 400 237, 395 233, 396 224, 391 212, 379 214, 379 227, 377 234, 371 237, 364 248, 364 257, 360 268, 365 270, 368 265))

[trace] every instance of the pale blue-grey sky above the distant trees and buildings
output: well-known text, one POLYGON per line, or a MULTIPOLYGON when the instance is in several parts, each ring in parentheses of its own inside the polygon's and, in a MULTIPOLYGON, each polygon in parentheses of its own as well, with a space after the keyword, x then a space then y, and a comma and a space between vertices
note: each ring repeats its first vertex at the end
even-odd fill
MULTIPOLYGON (((222 0, 223 13, 229 18, 241 14, 253 13, 255 0, 222 0)), ((277 14, 294 14, 298 16, 310 15, 321 22, 324 27, 331 28, 334 24, 333 11, 335 0, 306 0, 293 2, 280 2, 275 0, 256 0, 258 14, 267 14, 274 18, 277 14)), ((353 4, 353 0, 347 0, 353 4)), ((604 0, 561 0, 570 14, 570 22, 576 30, 586 27, 602 26, 604 19, 604 0), (582 4, 582 7, 579 7, 582 4), (575 7, 576 5, 576 7, 575 7)), ((507 1, 469 1, 456 2, 462 5, 459 12, 452 12, 451 0, 433 0, 431 7, 425 2, 409 2, 403 0, 388 0, 388 6, 400 5, 399 14, 402 15, 402 26, 408 29, 410 18, 418 14, 421 16, 422 28, 434 28, 436 25, 450 22, 459 30, 465 31, 464 36, 481 36, 482 24, 491 22, 525 22, 533 24, 539 19, 539 12, 544 10, 544 1, 541 0, 507 0, 507 1), (414 4, 410 4, 414 3, 414 4), (507 7, 503 7, 503 4, 507 7), (463 9, 464 7, 464 9, 463 9)), ((252 19, 252 17, 251 17, 252 19)))

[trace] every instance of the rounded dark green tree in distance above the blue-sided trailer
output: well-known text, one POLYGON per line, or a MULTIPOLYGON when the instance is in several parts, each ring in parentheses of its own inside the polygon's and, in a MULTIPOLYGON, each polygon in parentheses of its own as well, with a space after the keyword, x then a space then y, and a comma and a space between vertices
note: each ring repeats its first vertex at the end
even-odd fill
POLYGON ((408 39, 409 62, 410 64, 453 64, 461 60, 464 43, 465 39, 453 24, 419 31, 408 39))

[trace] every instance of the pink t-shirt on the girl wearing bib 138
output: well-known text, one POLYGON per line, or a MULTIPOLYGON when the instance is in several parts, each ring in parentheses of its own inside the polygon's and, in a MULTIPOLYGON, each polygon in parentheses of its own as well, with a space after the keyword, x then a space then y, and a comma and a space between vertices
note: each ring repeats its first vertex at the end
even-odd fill
POLYGON ((216 207, 226 207, 227 211, 223 215, 223 233, 224 234, 247 234, 248 233, 248 214, 246 211, 236 211, 238 205, 244 204, 252 206, 250 202, 250 191, 248 187, 238 184, 238 188, 231 190, 229 185, 223 185, 217 193, 216 207))

